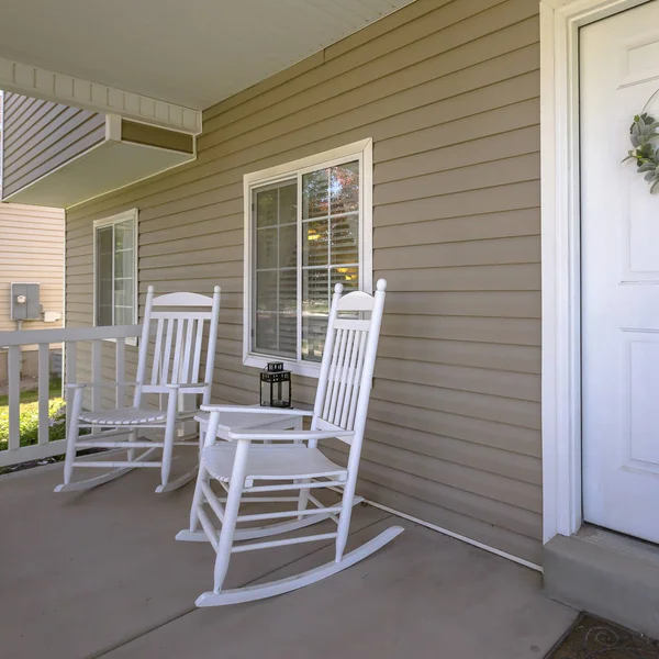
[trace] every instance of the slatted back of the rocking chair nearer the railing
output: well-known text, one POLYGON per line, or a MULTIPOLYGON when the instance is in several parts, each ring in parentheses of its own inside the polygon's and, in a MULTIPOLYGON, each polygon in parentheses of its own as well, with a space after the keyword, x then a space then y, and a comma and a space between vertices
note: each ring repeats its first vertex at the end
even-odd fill
POLYGON ((220 287, 215 287, 212 298, 198 293, 168 293, 154 298, 153 287, 148 288, 135 406, 139 405, 143 393, 166 391, 167 384, 205 386, 203 403, 210 402, 217 342, 217 333, 212 328, 217 326, 220 292, 220 287))

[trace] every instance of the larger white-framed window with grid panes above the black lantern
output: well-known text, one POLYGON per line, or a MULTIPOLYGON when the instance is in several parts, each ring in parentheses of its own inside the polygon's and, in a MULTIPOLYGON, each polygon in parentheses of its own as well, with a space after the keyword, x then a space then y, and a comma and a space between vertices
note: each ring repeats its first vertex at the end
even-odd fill
POLYGON ((317 375, 334 286, 371 289, 370 139, 245 176, 244 362, 317 375))

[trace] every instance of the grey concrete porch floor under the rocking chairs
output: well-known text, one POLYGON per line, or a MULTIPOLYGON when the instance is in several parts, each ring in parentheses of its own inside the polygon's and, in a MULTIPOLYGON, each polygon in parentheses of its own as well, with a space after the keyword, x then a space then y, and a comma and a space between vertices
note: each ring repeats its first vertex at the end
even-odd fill
MULTIPOLYGON (((0 477, 0 657, 541 658, 577 615, 541 594, 537 572, 371 506, 356 509, 353 546, 392 524, 405 533, 367 560, 294 593, 198 610, 212 549, 174 539, 192 484, 156 495, 156 478, 56 495, 62 465, 0 477)), ((226 585, 332 556, 319 544, 238 554, 226 585)))

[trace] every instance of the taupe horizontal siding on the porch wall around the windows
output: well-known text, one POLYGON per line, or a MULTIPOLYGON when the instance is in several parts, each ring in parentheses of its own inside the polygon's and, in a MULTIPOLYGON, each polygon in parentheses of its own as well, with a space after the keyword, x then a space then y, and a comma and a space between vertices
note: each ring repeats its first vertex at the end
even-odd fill
MULTIPOLYGON (((194 165, 68 213, 68 322, 92 317, 92 221, 136 206, 141 303, 222 284, 214 398, 254 403, 243 175, 372 137, 389 293, 361 491, 539 563, 537 11, 417 0, 206 111, 194 165)), ((297 400, 314 389, 294 378, 297 400)))

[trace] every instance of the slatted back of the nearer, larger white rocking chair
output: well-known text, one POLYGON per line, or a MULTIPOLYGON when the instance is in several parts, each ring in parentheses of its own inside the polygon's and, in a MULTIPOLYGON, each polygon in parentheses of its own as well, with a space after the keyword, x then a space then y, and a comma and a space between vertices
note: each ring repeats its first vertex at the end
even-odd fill
POLYGON ((336 284, 323 350, 313 429, 334 427, 355 431, 355 439, 361 442, 386 287, 387 282, 381 279, 375 295, 354 292, 342 297, 343 287, 336 284), (368 313, 369 320, 359 317, 368 313))

